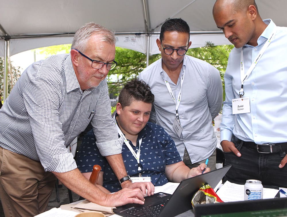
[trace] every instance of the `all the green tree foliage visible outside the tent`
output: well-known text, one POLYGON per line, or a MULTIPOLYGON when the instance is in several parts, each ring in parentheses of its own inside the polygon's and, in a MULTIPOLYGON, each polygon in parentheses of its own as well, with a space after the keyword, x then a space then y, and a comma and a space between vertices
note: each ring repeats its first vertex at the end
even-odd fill
MULTIPOLYGON (((187 55, 204 60, 216 67, 220 71, 222 85, 224 87, 223 76, 228 62, 228 55, 233 47, 233 45, 214 46, 212 42, 206 42, 206 45, 204 47, 189 49, 187 51, 187 55)), ((41 58, 47 58, 55 54, 69 53, 70 49, 71 44, 55 45, 50 47, 38 48, 35 50, 35 53, 36 57, 38 54, 40 54, 42 56, 41 58)), ((153 63, 159 58, 160 54, 150 56, 149 64, 153 63)), ((132 78, 137 77, 139 73, 146 68, 146 55, 134 50, 116 47, 115 60, 118 62, 117 67, 111 70, 107 77, 111 97, 116 97, 127 81, 130 81, 132 78)), ((0 61, 0 71, 2 72, 0 75, 0 94, 3 95, 4 64, 3 59, 0 59, 0 61)), ((17 81, 20 76, 19 69, 11 67, 10 71, 11 73, 9 73, 8 77, 8 92, 10 92, 11 88, 15 84, 15 81, 17 81)))

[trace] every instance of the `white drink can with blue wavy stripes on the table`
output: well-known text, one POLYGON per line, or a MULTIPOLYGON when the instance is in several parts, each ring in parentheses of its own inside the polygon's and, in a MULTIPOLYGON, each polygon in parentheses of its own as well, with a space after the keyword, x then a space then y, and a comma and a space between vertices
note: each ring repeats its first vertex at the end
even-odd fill
POLYGON ((256 179, 248 179, 244 185, 244 200, 258 200, 263 198, 263 185, 256 179))

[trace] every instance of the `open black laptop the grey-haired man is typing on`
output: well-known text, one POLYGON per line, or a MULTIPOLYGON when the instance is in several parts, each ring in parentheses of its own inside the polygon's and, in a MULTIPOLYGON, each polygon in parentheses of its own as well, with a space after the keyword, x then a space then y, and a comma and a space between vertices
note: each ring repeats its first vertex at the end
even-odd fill
POLYGON ((156 193, 145 197, 145 204, 127 204, 113 211, 126 217, 132 216, 176 216, 192 209, 191 199, 196 191, 205 184, 216 187, 231 165, 181 181, 174 193, 156 193))

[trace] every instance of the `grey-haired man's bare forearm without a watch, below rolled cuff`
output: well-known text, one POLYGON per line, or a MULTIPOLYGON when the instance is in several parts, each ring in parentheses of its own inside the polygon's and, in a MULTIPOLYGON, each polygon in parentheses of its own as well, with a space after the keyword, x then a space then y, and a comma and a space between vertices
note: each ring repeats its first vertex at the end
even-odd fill
POLYGON ((52 172, 67 188, 90 202, 106 206, 106 193, 94 186, 78 169, 65 173, 52 172))

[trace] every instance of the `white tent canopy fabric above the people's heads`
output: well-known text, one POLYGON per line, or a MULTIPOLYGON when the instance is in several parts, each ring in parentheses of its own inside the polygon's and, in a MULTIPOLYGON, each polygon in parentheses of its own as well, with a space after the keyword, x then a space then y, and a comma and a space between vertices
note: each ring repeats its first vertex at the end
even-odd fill
MULTIPOLYGON (((212 17, 215 0, 0 0, 0 56, 4 56, 5 39, 9 55, 33 48, 71 43, 74 32, 94 21, 117 36, 117 46, 158 53, 155 39, 161 24, 181 17, 191 30, 192 47, 229 44, 216 28, 212 17), (135 34, 140 33, 140 34, 135 34)), ((286 0, 257 0, 263 19, 271 18, 278 26, 287 26, 286 0)))

